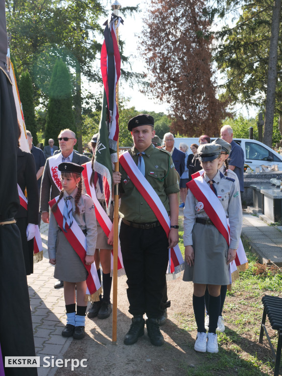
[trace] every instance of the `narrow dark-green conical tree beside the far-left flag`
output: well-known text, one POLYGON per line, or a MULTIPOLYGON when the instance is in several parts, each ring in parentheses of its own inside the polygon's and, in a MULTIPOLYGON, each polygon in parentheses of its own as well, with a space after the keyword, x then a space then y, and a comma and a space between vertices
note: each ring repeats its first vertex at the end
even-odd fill
POLYGON ((23 105, 25 127, 31 132, 33 144, 36 146, 38 144, 38 139, 36 134, 36 121, 33 103, 33 87, 28 71, 25 71, 20 78, 19 93, 23 105))

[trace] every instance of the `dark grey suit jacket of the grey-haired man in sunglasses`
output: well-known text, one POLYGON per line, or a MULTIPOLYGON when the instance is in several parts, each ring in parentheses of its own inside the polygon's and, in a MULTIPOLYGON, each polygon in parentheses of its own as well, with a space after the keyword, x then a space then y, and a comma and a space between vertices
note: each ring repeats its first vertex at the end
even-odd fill
MULTIPOLYGON (((49 211, 48 202, 60 194, 60 191, 55 185, 50 174, 50 168, 49 168, 50 158, 53 158, 53 157, 49 157, 47 159, 45 167, 44 167, 44 171, 43 171, 43 176, 42 176, 41 194, 40 194, 40 211, 41 212, 49 211)), ((74 152, 71 162, 81 165, 89 161, 90 161, 90 158, 88 158, 86 155, 82 155, 82 154, 78 154, 77 152, 74 152)))

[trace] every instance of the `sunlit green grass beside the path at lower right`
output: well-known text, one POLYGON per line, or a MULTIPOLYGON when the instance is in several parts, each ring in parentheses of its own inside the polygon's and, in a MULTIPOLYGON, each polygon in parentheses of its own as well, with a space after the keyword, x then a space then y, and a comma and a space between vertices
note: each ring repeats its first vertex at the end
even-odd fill
MULTIPOLYGON (((183 231, 180 235, 180 249, 184 253, 183 231)), ((251 253, 247 241, 242 239, 249 261, 249 268, 240 272, 239 279, 227 292, 223 316, 226 330, 218 334, 220 350, 218 354, 200 354, 200 362, 195 366, 179 364, 186 376, 259 376, 273 375, 274 362, 267 343, 258 344, 264 294, 281 296, 282 272, 276 266, 258 264, 256 255, 251 253)), ((188 332, 196 332, 194 316, 175 314, 180 327, 188 332)), ((266 323, 273 346, 277 346, 277 332, 266 323)), ((189 344, 191 349, 193 344, 189 344)))

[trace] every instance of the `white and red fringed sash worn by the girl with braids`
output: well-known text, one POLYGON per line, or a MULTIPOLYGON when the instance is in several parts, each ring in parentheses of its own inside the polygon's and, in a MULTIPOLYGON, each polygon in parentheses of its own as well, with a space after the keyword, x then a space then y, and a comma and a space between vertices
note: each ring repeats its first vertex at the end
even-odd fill
MULTIPOLYGON (((59 196, 55 197, 53 200, 49 201, 48 204, 50 208, 57 202, 59 196)), ((63 234, 66 236, 68 242, 71 244, 74 251, 77 253, 81 262, 83 263, 85 269, 88 271, 88 277, 86 279, 87 289, 86 289, 86 301, 98 301, 99 295, 102 291, 101 284, 99 282, 97 270, 95 267, 95 263, 92 265, 86 265, 85 263, 85 256, 86 256, 86 249, 87 249, 87 242, 86 236, 83 234, 81 228, 78 226, 77 222, 73 218, 73 223, 71 228, 69 225, 66 224, 65 232, 63 230, 63 212, 65 207, 65 201, 62 199, 59 201, 57 210, 53 212, 54 217, 62 230, 63 234)))

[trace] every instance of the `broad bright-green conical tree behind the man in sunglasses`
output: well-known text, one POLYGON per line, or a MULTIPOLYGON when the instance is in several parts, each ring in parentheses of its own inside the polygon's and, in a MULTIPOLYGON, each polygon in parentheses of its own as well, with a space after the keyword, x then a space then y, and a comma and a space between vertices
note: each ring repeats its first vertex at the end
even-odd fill
POLYGON ((58 146, 57 137, 60 131, 66 128, 76 131, 72 110, 71 75, 66 64, 60 59, 54 66, 50 81, 45 145, 48 145, 49 139, 54 139, 58 146))

